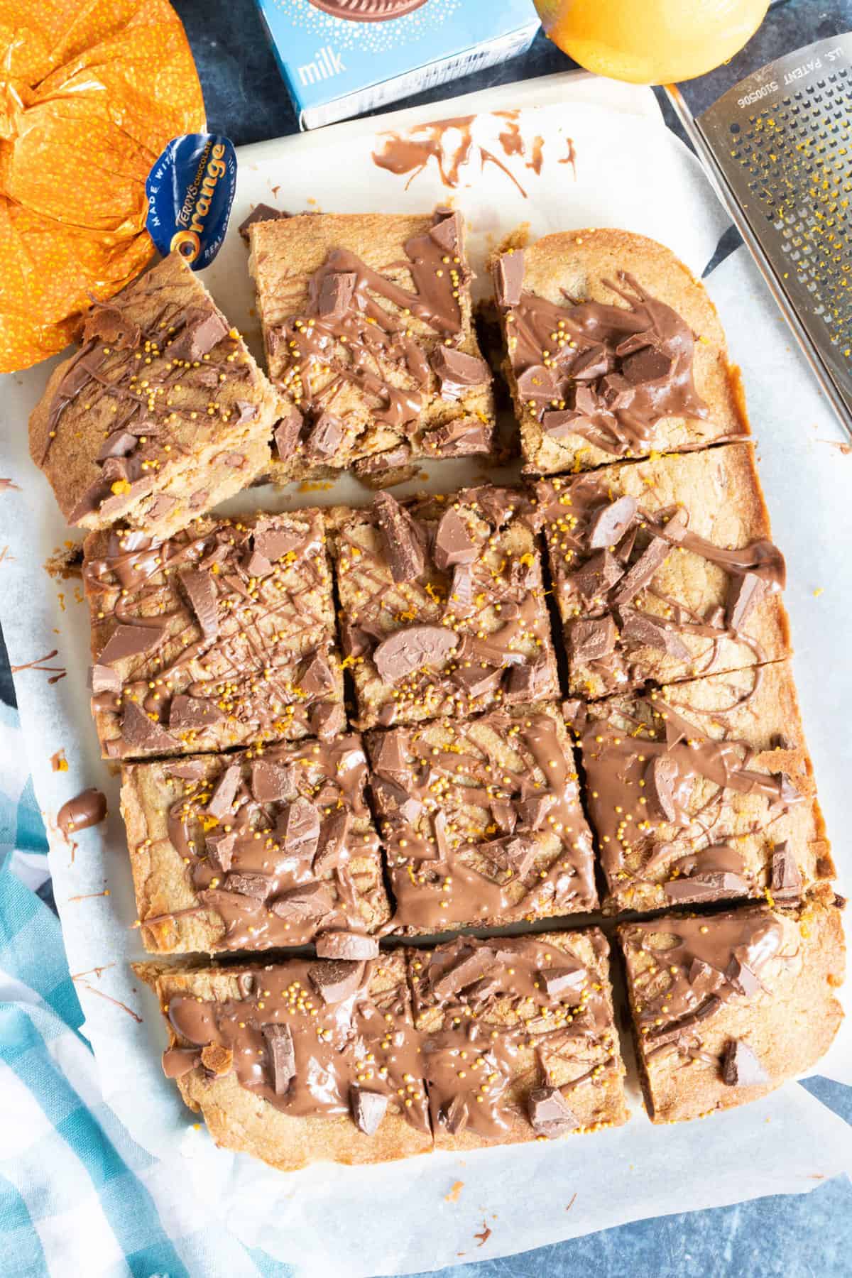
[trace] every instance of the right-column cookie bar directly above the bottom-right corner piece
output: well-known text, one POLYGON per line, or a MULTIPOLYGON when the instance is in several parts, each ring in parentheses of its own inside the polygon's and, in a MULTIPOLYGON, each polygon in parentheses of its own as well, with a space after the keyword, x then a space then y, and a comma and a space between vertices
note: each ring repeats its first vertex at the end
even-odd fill
POLYGON ((788 662, 591 702, 586 713, 604 909, 766 892, 791 901, 833 875, 788 662))

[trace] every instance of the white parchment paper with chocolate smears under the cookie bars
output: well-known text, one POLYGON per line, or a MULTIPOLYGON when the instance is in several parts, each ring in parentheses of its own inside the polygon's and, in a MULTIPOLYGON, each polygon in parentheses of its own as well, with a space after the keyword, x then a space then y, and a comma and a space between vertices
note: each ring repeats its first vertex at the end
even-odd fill
MULTIPOLYGON (((535 236, 604 225, 653 235, 701 273, 726 227, 700 167, 666 130, 650 91, 558 75, 243 148, 232 229, 204 282, 259 349, 245 247, 236 234, 257 202, 290 211, 425 211, 448 198, 468 219, 475 268, 502 235, 528 221, 535 236), (506 118, 493 112, 506 110, 520 111, 515 123, 528 147, 535 137, 543 139, 540 174, 526 164, 529 150, 505 156, 497 135, 506 118), (396 176, 372 161, 388 129, 407 132, 439 116, 474 114, 474 146, 453 189, 442 183, 434 160, 410 181, 410 175, 396 176), (575 166, 562 162, 568 138, 575 166), (505 161, 515 181, 482 164, 480 146, 505 161)), ((743 369, 775 541, 788 560, 796 674, 842 888, 852 823, 852 666, 846 653, 852 456, 841 450, 841 428, 746 250, 728 258, 708 284, 743 369)), ((45 569, 68 541, 79 541, 65 529, 27 450, 27 415, 52 363, 1 380, 0 477, 17 487, 0 486, 0 617, 13 667, 22 667, 15 674, 22 725, 51 837, 70 970, 105 1098, 137 1141, 184 1172, 185 1196, 158 1204, 161 1210, 189 1214, 197 1226, 226 1217, 245 1242, 304 1273, 391 1274, 508 1255, 641 1217, 806 1191, 848 1169, 848 1126, 797 1084, 741 1111, 662 1128, 645 1118, 634 1085, 634 1118, 618 1131, 387 1167, 322 1164, 281 1176, 213 1149, 161 1074, 165 1034, 156 1001, 128 966, 143 953, 132 929, 135 909, 118 778, 98 757, 88 711, 88 615, 79 579, 56 579, 45 569), (60 749, 66 772, 51 766, 60 749), (69 846, 56 832, 55 814, 92 785, 107 795, 109 819, 69 846)), ((480 473, 465 461, 427 470, 428 481, 411 487, 442 491, 480 473)), ((365 489, 345 478, 330 491, 255 489, 229 510, 365 500, 365 489)), ((849 1033, 842 1031, 819 1072, 852 1082, 849 1033)))

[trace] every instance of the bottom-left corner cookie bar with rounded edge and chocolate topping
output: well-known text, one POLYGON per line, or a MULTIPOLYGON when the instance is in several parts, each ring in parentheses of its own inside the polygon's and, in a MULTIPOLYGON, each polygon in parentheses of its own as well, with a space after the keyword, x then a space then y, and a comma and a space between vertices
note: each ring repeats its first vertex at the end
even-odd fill
POLYGON ((281 1171, 432 1149, 402 953, 137 971, 166 1016, 164 1070, 221 1148, 281 1171))

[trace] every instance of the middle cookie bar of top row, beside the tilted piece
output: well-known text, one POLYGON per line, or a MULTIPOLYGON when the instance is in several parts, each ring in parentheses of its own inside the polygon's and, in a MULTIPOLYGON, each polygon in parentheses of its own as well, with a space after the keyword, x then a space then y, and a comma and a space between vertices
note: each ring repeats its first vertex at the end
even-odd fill
POLYGON ((248 229, 270 374, 296 405, 272 477, 488 454, 492 374, 473 328, 460 213, 307 213, 248 229))

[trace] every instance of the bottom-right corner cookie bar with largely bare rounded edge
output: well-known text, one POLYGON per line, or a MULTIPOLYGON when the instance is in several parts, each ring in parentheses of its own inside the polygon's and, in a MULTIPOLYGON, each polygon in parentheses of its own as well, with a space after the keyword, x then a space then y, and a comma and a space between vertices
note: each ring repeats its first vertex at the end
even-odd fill
POLYGON ((841 1024, 843 929, 825 884, 792 909, 663 915, 618 937, 651 1122, 756 1100, 819 1061, 841 1024))

